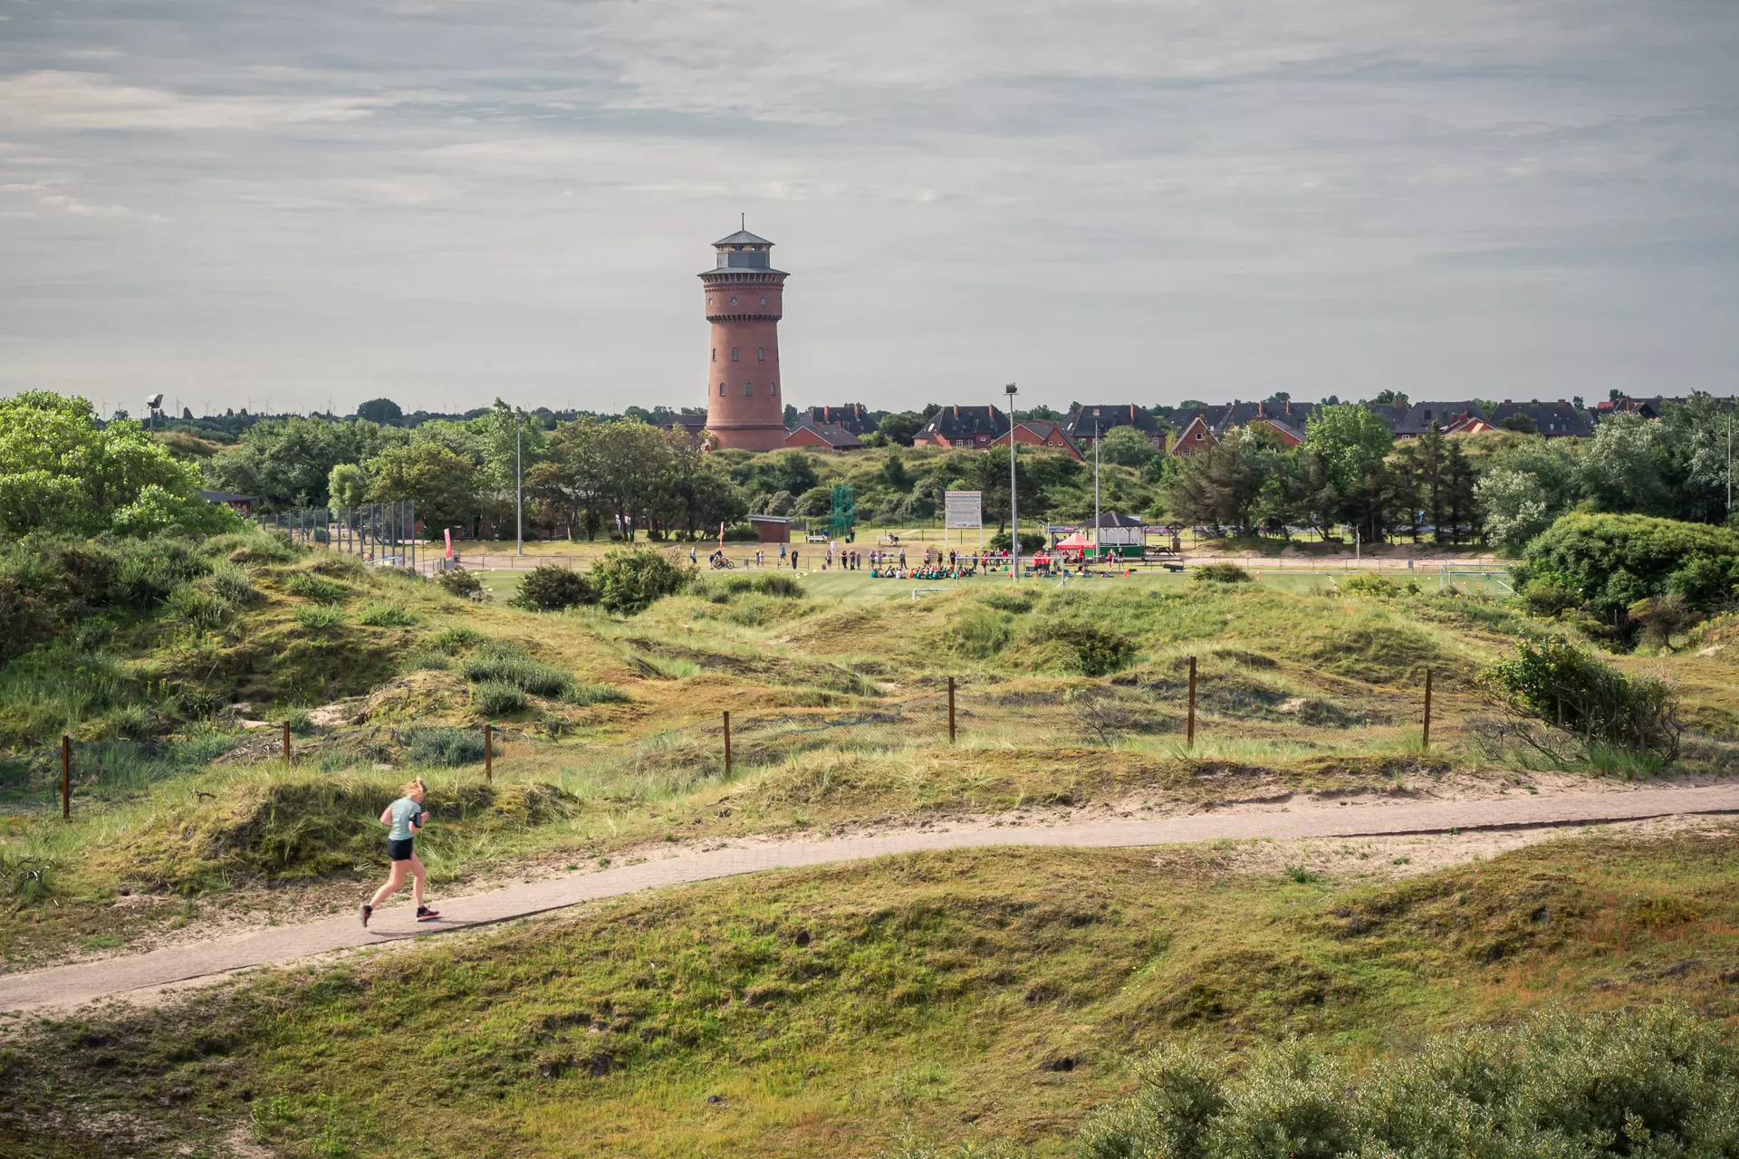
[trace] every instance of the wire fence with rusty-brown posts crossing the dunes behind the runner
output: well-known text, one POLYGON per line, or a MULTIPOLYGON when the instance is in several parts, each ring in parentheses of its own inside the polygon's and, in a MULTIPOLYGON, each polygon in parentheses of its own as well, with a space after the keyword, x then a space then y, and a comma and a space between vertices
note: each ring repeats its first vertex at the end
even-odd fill
MULTIPOLYGON (((1537 721, 1506 714, 1449 669, 1419 667, 1381 686, 1320 672, 1304 686, 1269 667, 1268 657, 1221 650, 1103 681, 929 678, 913 695, 833 695, 833 707, 751 705, 619 744, 563 744, 567 726, 555 718, 330 730, 303 723, 301 732, 283 721, 247 732, 212 728, 174 744, 63 738, 0 761, 0 805, 71 817, 167 778, 259 765, 318 772, 450 766, 483 780, 518 778, 529 768, 565 789, 633 799, 816 751, 1019 749, 1040 759, 1125 751, 1228 765, 1318 759, 1325 766, 1445 756, 1522 768, 1563 766, 1576 751, 1574 737, 1558 737, 1556 754, 1542 749, 1539 742, 1549 737, 1537 721)), ((1685 754, 1739 768, 1739 742, 1687 732, 1685 754)))

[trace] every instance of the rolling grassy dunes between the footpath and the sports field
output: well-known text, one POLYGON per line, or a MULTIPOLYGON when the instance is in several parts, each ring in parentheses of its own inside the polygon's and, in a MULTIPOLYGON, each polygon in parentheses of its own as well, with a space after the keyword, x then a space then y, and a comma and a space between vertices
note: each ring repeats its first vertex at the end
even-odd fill
MULTIPOLYGON (((843 589, 861 580, 833 573, 805 579, 803 598, 713 584, 616 619, 461 601, 320 553, 252 566, 249 579, 233 619, 139 622, 106 664, 129 688, 184 688, 197 674, 210 697, 245 697, 243 714, 294 719, 294 765, 280 761, 275 730, 240 730, 235 711, 150 745, 118 735, 115 714, 92 716, 73 726, 78 798, 64 825, 49 811, 57 758, 38 749, 9 761, 0 878, 24 904, 0 917, 7 968, 198 921, 243 888, 290 888, 289 909, 303 893, 318 909, 318 888, 379 872, 372 817, 412 772, 435 785, 424 848, 450 884, 649 841, 1033 806, 1429 791, 1469 775, 1520 784, 1542 765, 1473 744, 1489 709, 1471 678, 1523 627, 1476 594, 1106 582, 962 586, 911 601, 852 598, 843 589), (1186 751, 1189 655, 1198 719, 1186 751), (1426 667, 1436 678, 1429 754, 1417 733, 1426 667), (948 676, 960 688, 955 747, 948 676), (504 683, 506 707, 489 702, 504 683), (501 745, 487 791, 485 721, 501 745), (141 917, 115 911, 122 890, 200 905, 141 917)), ((1734 655, 1624 660, 1682 676, 1687 718, 1709 735, 1689 752, 1692 768, 1732 763, 1718 738, 1739 719, 1734 655)))

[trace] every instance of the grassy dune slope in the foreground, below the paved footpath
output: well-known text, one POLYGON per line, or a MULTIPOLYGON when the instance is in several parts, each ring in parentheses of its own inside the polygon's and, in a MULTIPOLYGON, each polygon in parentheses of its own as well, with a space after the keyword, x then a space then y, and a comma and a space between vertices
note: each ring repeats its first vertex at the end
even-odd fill
POLYGON ((1589 836, 1384 881, 1233 872, 1231 844, 983 850, 713 883, 50 1025, 0 1053, 0 1138, 875 1156, 909 1131, 1064 1154, 1160 1043, 1303 1034, 1358 1060, 1551 1003, 1732 1020, 1736 853, 1732 829, 1589 836))

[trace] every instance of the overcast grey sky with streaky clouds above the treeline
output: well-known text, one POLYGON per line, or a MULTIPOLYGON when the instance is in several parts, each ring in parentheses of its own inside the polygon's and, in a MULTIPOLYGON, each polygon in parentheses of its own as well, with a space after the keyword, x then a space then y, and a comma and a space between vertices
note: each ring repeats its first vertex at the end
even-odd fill
POLYGON ((1734 0, 0 0, 0 391, 139 412, 1739 382, 1734 0))

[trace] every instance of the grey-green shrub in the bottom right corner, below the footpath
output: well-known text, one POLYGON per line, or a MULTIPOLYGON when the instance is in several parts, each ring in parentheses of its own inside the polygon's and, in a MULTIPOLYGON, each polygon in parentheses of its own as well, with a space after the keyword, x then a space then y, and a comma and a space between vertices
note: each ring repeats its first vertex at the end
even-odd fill
POLYGON ((1739 1050, 1676 1008, 1549 1011, 1356 1070, 1301 1041, 1242 1062, 1160 1050, 1132 1098, 1089 1116, 1075 1154, 1715 1159, 1739 1121, 1739 1050))

